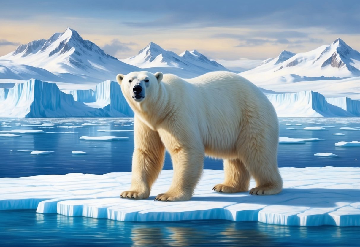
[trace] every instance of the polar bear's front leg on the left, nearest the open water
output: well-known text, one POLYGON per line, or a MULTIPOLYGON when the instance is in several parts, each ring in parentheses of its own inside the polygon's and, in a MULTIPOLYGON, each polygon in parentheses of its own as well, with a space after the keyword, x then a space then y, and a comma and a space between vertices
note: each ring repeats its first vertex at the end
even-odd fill
POLYGON ((140 120, 134 121, 134 154, 132 155, 131 188, 121 198, 144 199, 159 176, 165 159, 165 147, 157 131, 140 120))

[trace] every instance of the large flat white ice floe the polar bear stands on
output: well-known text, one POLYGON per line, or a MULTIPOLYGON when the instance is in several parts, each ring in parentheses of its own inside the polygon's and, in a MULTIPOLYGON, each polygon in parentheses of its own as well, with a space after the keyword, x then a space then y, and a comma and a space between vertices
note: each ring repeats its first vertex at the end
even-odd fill
POLYGON ((224 171, 204 170, 194 196, 185 202, 154 201, 169 188, 172 170, 163 170, 150 197, 138 201, 119 197, 130 188, 131 172, 0 178, 0 210, 36 208, 38 213, 120 221, 226 219, 277 225, 360 225, 360 168, 279 170, 284 189, 272 196, 214 192, 212 187, 223 181, 224 171))

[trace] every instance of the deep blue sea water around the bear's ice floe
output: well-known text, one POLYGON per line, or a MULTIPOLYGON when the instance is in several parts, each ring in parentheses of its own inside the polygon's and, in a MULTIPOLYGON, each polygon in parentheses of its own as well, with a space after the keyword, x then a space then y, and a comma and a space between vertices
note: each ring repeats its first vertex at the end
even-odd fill
MULTIPOLYGON (((305 144, 280 144, 279 167, 360 167, 360 148, 334 145, 339 141, 360 141, 360 118, 280 118, 279 121, 282 137, 324 139, 305 144), (314 126, 325 130, 303 130, 314 126), (287 129, 289 127, 295 129, 287 129), (341 127, 359 130, 339 130, 341 127), (339 158, 314 156, 324 152, 337 154, 339 158)), ((54 133, 19 134, 22 137, 18 138, 1 136, 0 177, 131 171, 134 133, 98 130, 132 130, 132 118, 4 118, 0 119, 1 123, 0 131, 22 129, 54 133), (80 140, 83 135, 128 136, 129 140, 80 140), (17 150, 53 152, 37 156, 17 150), (76 156, 73 150, 87 154, 76 156)), ((167 154, 164 169, 171 168, 167 154)), ((222 161, 206 158, 204 168, 221 170, 222 161)), ((36 214, 33 210, 0 211, 0 246, 358 246, 359 232, 360 227, 297 227, 224 220, 124 223, 36 214)))

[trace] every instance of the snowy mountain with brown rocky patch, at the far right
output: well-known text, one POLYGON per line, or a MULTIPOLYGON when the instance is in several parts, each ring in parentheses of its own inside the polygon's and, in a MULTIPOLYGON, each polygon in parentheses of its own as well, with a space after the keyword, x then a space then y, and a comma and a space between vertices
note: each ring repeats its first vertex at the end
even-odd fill
POLYGON ((306 81, 316 77, 355 77, 360 76, 360 53, 343 40, 336 39, 330 45, 323 45, 305 53, 293 54, 282 51, 275 59, 266 59, 258 67, 240 73, 249 80, 268 84, 269 80, 306 81), (301 77, 301 78, 299 78, 301 77))

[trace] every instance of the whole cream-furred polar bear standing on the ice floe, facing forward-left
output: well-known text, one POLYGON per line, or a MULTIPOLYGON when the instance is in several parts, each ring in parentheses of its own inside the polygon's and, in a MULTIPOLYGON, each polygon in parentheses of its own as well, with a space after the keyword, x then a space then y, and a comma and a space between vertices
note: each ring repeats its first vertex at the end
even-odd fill
POLYGON ((275 109, 254 84, 231 72, 192 79, 141 71, 118 74, 134 117, 134 154, 129 191, 121 198, 148 198, 162 170, 165 149, 174 175, 158 201, 185 201, 201 178, 204 156, 224 160, 225 180, 213 190, 250 194, 281 192, 277 165, 279 123, 275 109))

